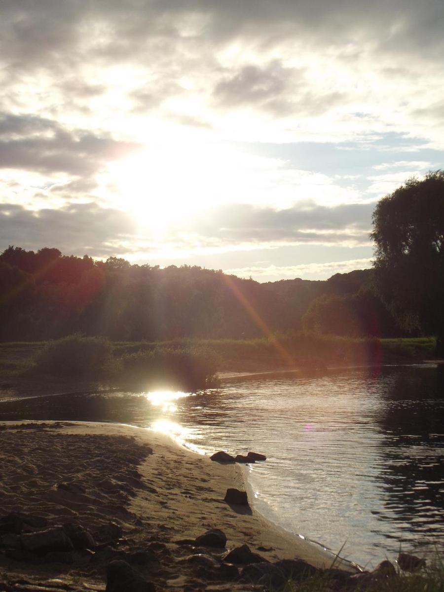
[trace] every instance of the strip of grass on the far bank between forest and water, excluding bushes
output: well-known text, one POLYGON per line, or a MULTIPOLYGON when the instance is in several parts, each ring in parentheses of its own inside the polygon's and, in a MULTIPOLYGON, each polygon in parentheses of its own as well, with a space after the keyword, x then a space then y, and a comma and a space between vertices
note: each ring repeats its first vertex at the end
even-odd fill
MULTIPOLYGON (((0 380, 20 377, 48 343, 52 342, 0 343, 0 380)), ((348 339, 288 332, 271 338, 113 342, 110 346, 113 359, 159 348, 207 348, 217 356, 219 371, 260 372, 289 367, 322 368, 327 365, 369 365, 433 359, 435 338, 348 339)))

